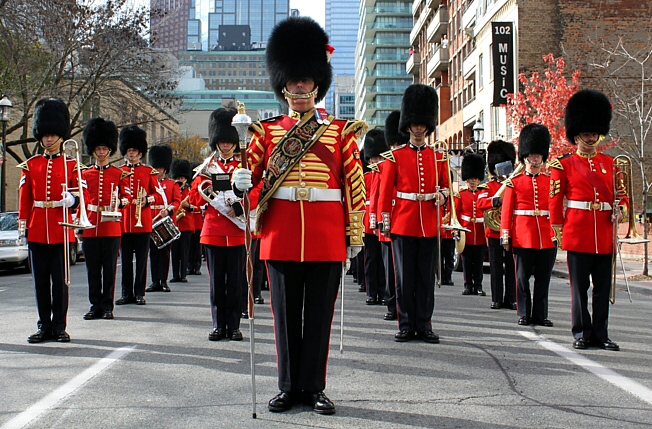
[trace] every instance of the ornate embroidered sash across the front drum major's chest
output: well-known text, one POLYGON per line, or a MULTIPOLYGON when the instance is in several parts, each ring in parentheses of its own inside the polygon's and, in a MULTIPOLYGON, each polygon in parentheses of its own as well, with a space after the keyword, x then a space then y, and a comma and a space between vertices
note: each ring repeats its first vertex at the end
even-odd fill
POLYGON ((300 121, 297 121, 281 138, 269 156, 258 199, 256 233, 260 232, 260 222, 263 212, 267 210, 268 200, 281 186, 292 168, 324 134, 333 119, 333 116, 329 116, 327 121, 318 121, 315 112, 317 112, 316 109, 312 114, 304 115, 300 121))

